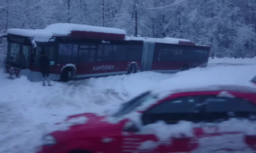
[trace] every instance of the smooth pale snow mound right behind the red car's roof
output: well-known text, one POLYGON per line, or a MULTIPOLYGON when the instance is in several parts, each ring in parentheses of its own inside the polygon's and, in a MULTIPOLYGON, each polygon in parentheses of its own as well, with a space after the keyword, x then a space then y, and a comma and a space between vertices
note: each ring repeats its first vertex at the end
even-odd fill
POLYGON ((216 85, 245 86, 246 89, 255 91, 256 86, 252 82, 249 82, 256 75, 252 71, 255 68, 256 66, 195 68, 176 73, 171 78, 162 80, 154 86, 152 91, 159 93, 169 91, 193 92, 198 90, 218 90, 218 86, 216 85))

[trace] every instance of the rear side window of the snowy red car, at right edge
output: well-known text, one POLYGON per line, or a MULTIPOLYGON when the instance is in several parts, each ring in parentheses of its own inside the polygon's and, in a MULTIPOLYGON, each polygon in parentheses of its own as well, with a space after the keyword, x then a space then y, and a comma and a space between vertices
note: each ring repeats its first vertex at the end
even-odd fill
POLYGON ((248 100, 240 98, 207 97, 206 104, 207 122, 221 122, 230 118, 254 120, 256 106, 248 100))

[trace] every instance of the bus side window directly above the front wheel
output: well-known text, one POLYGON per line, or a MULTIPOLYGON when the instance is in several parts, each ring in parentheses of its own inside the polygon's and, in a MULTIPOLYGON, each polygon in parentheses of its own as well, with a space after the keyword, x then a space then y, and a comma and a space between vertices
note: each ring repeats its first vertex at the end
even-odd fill
POLYGON ((78 45, 59 44, 58 63, 76 63, 78 54, 78 45))

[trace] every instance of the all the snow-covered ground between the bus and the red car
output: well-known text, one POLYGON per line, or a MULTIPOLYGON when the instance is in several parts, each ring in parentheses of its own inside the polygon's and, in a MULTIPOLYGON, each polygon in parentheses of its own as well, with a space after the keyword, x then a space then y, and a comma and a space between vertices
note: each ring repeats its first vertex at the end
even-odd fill
POLYGON ((174 75, 142 72, 68 83, 52 82, 51 87, 29 82, 25 77, 11 80, 0 72, 0 153, 32 153, 42 135, 66 116, 112 112, 122 102, 155 86, 178 88, 202 82, 239 84, 256 75, 256 62, 241 61, 240 64, 245 65, 224 66, 209 63, 207 68, 174 75))

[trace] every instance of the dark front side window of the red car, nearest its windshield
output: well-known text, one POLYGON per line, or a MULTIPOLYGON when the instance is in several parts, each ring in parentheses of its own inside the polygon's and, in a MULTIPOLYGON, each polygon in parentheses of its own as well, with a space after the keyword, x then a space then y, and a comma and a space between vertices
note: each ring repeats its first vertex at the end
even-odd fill
POLYGON ((179 121, 192 121, 193 113, 200 103, 198 97, 182 97, 168 100, 147 110, 142 114, 144 125, 165 121, 166 124, 176 124, 179 121))

